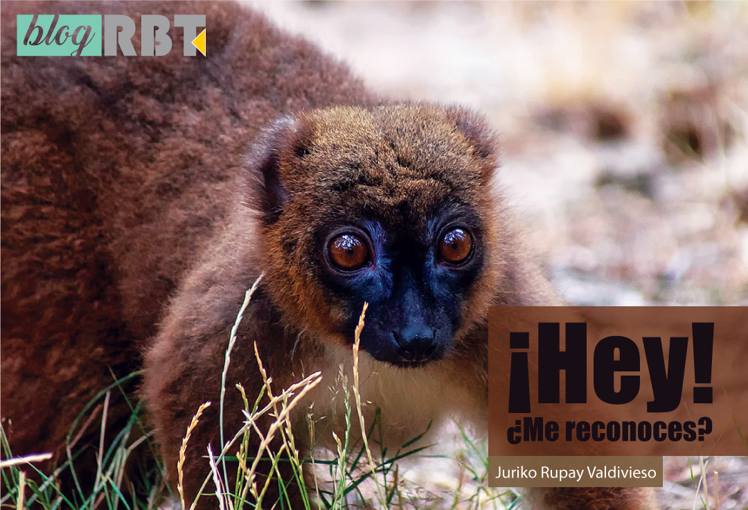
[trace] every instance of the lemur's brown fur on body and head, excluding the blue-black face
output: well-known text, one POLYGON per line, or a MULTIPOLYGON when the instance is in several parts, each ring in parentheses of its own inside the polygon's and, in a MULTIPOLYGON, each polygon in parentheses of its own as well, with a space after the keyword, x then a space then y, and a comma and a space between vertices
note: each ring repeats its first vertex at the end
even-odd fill
MULTIPOLYGON (((136 49, 139 37, 138 23, 136 49)), ((144 353, 143 395, 176 485, 181 440, 197 407, 218 398, 230 328, 263 272, 231 356, 224 429, 242 421, 233 384, 260 392, 254 342, 276 388, 317 369, 333 383, 338 363, 350 364, 350 338, 340 334, 341 303, 316 280, 315 226, 364 208, 394 228, 450 198, 488 225, 487 263, 453 351, 410 370, 362 353, 364 397, 381 405, 394 436, 445 412, 485 419, 476 325, 491 304, 557 303, 494 190, 497 154, 482 118, 381 100, 343 64, 238 4, 3 4, 1 64, 2 416, 16 454, 61 455, 85 403, 144 353), (208 56, 183 57, 173 28, 159 58, 16 57, 16 13, 205 13, 208 56), (268 198, 272 178, 292 196, 282 214, 268 198)), ((329 398, 310 395, 315 416, 335 428, 329 398)), ((129 410, 108 412, 116 428, 129 410)), ((214 405, 191 437, 188 500, 206 475, 206 445, 220 450, 217 424, 214 405)), ((305 429, 296 428, 302 454, 305 429)), ((639 509, 639 494, 556 489, 530 500, 639 509)))

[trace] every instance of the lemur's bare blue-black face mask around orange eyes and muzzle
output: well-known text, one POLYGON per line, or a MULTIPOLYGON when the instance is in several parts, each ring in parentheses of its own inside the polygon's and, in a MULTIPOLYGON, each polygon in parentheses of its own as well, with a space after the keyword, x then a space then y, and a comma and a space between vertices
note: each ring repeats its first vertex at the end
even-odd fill
MULTIPOLYGON (((411 184, 414 193, 441 186, 411 184)), ((344 317, 341 334, 352 338, 367 302, 361 347, 380 361, 418 366, 452 347, 482 274, 483 225, 473 207, 448 199, 425 216, 414 213, 407 198, 393 207, 394 217, 382 218, 363 201, 357 216, 320 225, 316 270, 344 317)))

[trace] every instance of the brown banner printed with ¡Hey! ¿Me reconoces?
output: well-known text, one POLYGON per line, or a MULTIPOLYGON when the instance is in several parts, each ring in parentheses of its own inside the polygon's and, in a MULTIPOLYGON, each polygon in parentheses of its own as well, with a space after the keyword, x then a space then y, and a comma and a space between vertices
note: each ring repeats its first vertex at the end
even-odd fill
POLYGON ((748 455, 748 309, 495 307, 490 455, 748 455))

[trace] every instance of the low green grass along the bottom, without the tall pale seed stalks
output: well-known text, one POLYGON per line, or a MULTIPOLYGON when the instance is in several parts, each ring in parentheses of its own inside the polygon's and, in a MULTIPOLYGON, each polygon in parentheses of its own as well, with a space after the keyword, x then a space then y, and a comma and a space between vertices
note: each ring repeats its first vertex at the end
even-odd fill
MULTIPOLYGON (((118 385, 127 379, 137 377, 139 374, 131 374, 123 380, 114 383, 114 388, 110 387, 103 390, 87 406, 86 412, 90 412, 96 405, 102 404, 107 407, 108 401, 119 391, 118 385)), ((352 437, 352 425, 350 420, 355 414, 355 398, 352 395, 352 389, 346 391, 346 415, 348 427, 343 437, 340 437, 340 449, 334 452, 331 459, 311 459, 298 458, 298 455, 289 455, 292 451, 290 447, 292 434, 290 434, 289 422, 286 420, 294 396, 292 391, 302 389, 306 386, 297 386, 291 391, 281 392, 275 395, 275 403, 278 405, 278 416, 281 417, 280 425, 275 428, 275 434, 281 434, 283 441, 287 445, 279 452, 269 452, 264 449, 263 452, 250 452, 249 445, 253 434, 259 431, 253 430, 251 426, 243 427, 240 431, 227 440, 222 452, 213 452, 212 459, 205 458, 206 463, 215 467, 212 470, 212 476, 206 479, 203 485, 203 491, 200 498, 212 498, 216 503, 216 484, 221 487, 222 492, 227 492, 227 496, 222 498, 225 509, 254 509, 258 506, 261 508, 271 508, 273 503, 278 503, 275 508, 289 508, 289 494, 284 494, 283 503, 270 502, 265 500, 266 491, 269 485, 253 485, 258 482, 252 470, 253 463, 256 459, 270 460, 272 465, 278 466, 281 462, 290 463, 293 467, 295 480, 283 479, 266 479, 269 483, 277 483, 279 487, 289 487, 289 482, 298 482, 304 477, 307 470, 314 467, 317 477, 325 479, 327 483, 310 484, 309 487, 302 490, 304 499, 304 509, 317 508, 319 505, 325 509, 352 509, 360 506, 374 506, 378 508, 399 508, 402 501, 408 498, 404 497, 404 481, 400 478, 400 462, 405 459, 415 458, 429 452, 430 445, 420 446, 421 440, 427 431, 418 434, 411 440, 403 443, 398 449, 388 451, 384 447, 384 437, 382 437, 381 415, 375 413, 375 419, 367 427, 367 439, 375 446, 373 452, 377 455, 373 458, 373 470, 370 469, 367 451, 363 446, 362 438, 352 437), (236 450, 233 449, 236 447, 236 450), (229 455, 229 452, 238 452, 238 455, 229 455), (234 470, 236 476, 236 485, 230 490, 225 491, 224 480, 227 478, 222 474, 222 465, 225 461, 227 473, 234 470), (376 482, 373 482, 376 480, 376 482), (367 486, 367 490, 364 487, 367 486), (375 489, 372 489, 375 485, 375 489), (367 496, 368 494, 368 496, 367 496), (373 494, 373 496, 372 496, 373 494)), ((234 391, 244 390, 237 385, 234 391)), ((126 395, 123 395, 126 398, 126 395)), ((301 397, 303 398, 303 396, 301 397)), ((301 401, 301 398, 298 401, 301 401)), ((245 414, 248 416, 248 422, 254 422, 260 416, 260 413, 270 412, 272 410, 272 399, 263 392, 258 395, 254 402, 245 398, 245 414)), ((69 438, 74 439, 79 431, 79 423, 85 422, 86 415, 82 413, 79 422, 71 428, 69 438)), ((106 428, 106 416, 102 416, 98 424, 102 431, 106 428)), ((313 428, 313 423, 309 425, 313 428)), ((102 436, 103 437, 103 436, 102 436)), ((4 429, 0 429, 0 440, 3 449, 3 458, 12 458, 12 452, 8 448, 7 438, 4 429)), ((70 441, 69 441, 70 443, 70 441)), ((188 439, 186 444, 188 444, 188 439)), ((193 445, 194 446, 194 445, 193 445)), ((19 487, 24 488, 23 508, 35 509, 153 509, 163 503, 166 498, 172 497, 178 500, 179 494, 172 494, 168 485, 165 483, 164 469, 159 463, 156 455, 156 446, 152 442, 150 432, 144 427, 143 410, 141 403, 132 406, 132 416, 130 416, 127 425, 122 431, 116 434, 111 443, 99 442, 97 448, 97 458, 99 459, 98 468, 95 473, 93 488, 85 491, 80 483, 85 477, 91 476, 91 473, 80 473, 76 470, 76 458, 81 450, 76 450, 76 445, 69 449, 70 455, 57 469, 49 475, 41 472, 34 463, 16 464, 3 467, 1 470, 3 495, 0 497, 0 506, 3 508, 16 508, 19 500, 19 487), (133 440, 133 438, 136 438, 133 440), (126 469, 126 464, 127 466, 126 469), (133 465, 134 464, 134 465, 133 465), (73 488, 67 487, 70 492, 59 488, 55 484, 59 476, 65 472, 69 473, 78 482, 73 488), (22 474, 25 473, 25 474, 22 474)), ((485 459, 475 465, 468 458, 476 458, 478 455, 485 455, 485 449, 481 450, 480 446, 473 444, 467 435, 465 435, 465 452, 459 456, 459 463, 468 470, 469 479, 472 482, 481 482, 485 478, 485 459)), ((207 451, 206 451, 207 454, 207 451)), ((277 473, 278 474, 278 473, 277 473)), ((262 480, 262 479, 260 479, 262 480)), ((304 486, 301 485, 303 488, 304 486)), ((292 490, 297 490, 293 488, 292 490)), ((484 508, 483 503, 487 503, 492 498, 501 498, 500 494, 490 494, 494 491, 490 488, 479 486, 476 494, 472 495, 475 504, 470 504, 465 498, 460 497, 459 493, 454 494, 450 503, 441 502, 439 508, 484 508)), ((468 500, 471 498, 468 497, 468 500)), ((517 500, 516 497, 512 498, 517 500)), ((190 508, 191 503, 187 501, 186 507, 190 508)), ((219 505, 220 506, 220 505, 219 505)), ((499 504, 497 508, 514 508, 514 504, 509 506, 499 504)), ((415 507, 414 507, 415 508, 415 507)), ((429 508, 423 506, 421 508, 429 508)))

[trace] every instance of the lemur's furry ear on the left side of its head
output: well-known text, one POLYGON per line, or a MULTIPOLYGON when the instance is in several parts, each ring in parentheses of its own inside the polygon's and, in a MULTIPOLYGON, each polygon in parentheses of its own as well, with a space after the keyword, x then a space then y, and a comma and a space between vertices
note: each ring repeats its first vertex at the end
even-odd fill
POLYGON ((251 145, 246 169, 265 225, 277 222, 291 199, 289 168, 309 154, 310 137, 304 132, 294 118, 283 117, 264 128, 251 145))

